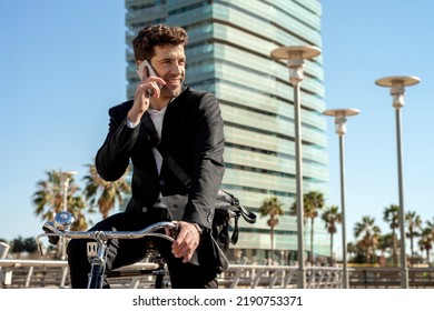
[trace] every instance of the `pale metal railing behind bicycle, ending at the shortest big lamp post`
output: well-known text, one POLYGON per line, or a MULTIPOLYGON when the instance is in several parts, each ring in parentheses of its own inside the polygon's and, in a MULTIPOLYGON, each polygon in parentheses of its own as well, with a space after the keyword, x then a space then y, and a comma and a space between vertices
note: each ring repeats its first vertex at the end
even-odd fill
MULTIPOLYGON (((151 269, 158 265, 139 262, 122 269, 151 269)), ((221 288, 296 288, 297 267, 231 264, 220 274, 221 288)), ((341 288, 342 269, 307 268, 307 288, 341 288)), ((110 280, 112 288, 151 288, 155 275, 110 280)), ((0 260, 0 288, 69 288, 69 269, 62 260, 0 260)))

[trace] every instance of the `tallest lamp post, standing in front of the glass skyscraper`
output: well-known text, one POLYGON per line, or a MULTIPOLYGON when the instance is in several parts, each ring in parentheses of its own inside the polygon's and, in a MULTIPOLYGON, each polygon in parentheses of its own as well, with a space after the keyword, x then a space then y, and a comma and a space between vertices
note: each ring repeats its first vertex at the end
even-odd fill
POLYGON ((304 261, 304 211, 303 211, 303 170, 302 170, 302 121, 299 84, 304 78, 304 60, 320 54, 317 47, 282 47, 272 51, 272 58, 286 59, 289 68, 289 81, 294 87, 294 139, 296 162, 296 207, 297 207, 297 260, 298 260, 298 288, 306 287, 306 269, 304 261))

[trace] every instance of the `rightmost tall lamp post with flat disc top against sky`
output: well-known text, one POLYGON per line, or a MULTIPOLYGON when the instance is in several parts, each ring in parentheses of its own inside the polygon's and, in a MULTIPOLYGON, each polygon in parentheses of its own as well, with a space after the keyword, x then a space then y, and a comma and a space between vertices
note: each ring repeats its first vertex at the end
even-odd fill
POLYGON ((405 254, 405 225, 404 225, 404 182, 403 182, 403 160, 402 160, 402 133, 401 133, 401 108, 404 107, 404 87, 417 84, 421 81, 417 77, 386 77, 375 81, 379 87, 391 88, 393 98, 393 108, 396 116, 396 146, 397 146, 397 170, 398 170, 398 191, 400 191, 400 235, 401 235, 401 285, 408 288, 408 268, 405 254))

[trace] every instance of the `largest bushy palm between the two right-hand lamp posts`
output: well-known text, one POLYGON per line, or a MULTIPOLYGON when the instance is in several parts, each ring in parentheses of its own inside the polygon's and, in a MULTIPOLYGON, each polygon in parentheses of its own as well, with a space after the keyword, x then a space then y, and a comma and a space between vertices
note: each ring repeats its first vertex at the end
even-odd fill
POLYGON ((354 227, 354 235, 356 238, 363 235, 357 245, 365 251, 366 261, 368 263, 372 260, 372 253, 378 244, 379 233, 381 230, 379 227, 375 224, 375 219, 368 215, 363 217, 362 222, 356 222, 354 227))

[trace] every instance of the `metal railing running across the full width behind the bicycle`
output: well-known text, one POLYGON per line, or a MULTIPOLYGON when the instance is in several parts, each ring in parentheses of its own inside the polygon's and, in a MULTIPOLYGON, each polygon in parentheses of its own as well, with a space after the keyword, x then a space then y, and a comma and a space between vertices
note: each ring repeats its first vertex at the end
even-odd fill
MULTIPOLYGON (((149 270, 158 264, 139 262, 122 269, 149 270)), ((296 265, 230 264, 219 275, 220 288, 297 288, 296 265)), ((400 268, 351 268, 349 288, 401 288, 400 268)), ((155 275, 110 279, 112 288, 152 288, 155 275)), ((167 282, 168 277, 166 275, 167 282)), ((410 268, 410 288, 434 288, 434 268, 410 268)), ((306 288, 341 289, 343 269, 306 267, 306 288)), ((0 259, 0 288, 69 288, 69 269, 62 260, 0 259)))

